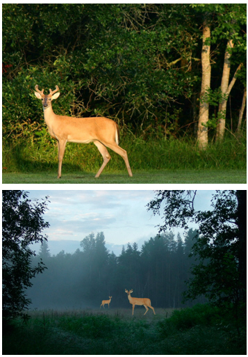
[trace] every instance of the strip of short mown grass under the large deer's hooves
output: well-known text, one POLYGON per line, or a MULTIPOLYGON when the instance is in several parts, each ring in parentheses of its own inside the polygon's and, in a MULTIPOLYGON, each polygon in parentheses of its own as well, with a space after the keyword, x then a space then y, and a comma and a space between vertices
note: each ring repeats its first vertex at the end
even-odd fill
POLYGON ((3 184, 246 184, 246 170, 168 169, 133 170, 129 177, 125 170, 104 172, 97 179, 96 172, 65 170, 58 180, 56 170, 36 173, 3 173, 3 184))

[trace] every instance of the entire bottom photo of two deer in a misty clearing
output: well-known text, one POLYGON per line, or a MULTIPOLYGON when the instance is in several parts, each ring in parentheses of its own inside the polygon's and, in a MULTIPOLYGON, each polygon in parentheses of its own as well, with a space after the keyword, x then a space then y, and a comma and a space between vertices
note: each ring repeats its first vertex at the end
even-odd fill
POLYGON ((3 190, 3 355, 245 355, 245 190, 3 190))

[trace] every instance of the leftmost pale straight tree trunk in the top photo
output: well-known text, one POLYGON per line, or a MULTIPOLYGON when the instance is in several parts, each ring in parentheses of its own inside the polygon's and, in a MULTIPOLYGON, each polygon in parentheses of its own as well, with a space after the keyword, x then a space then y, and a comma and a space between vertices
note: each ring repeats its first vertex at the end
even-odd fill
POLYGON ((201 49, 201 95, 200 95, 200 110, 199 122, 197 129, 197 140, 200 149, 205 149, 208 145, 208 100, 206 98, 206 90, 210 88, 211 66, 210 66, 210 45, 206 45, 206 39, 210 38, 210 26, 207 21, 204 21, 203 28, 203 45, 201 49))

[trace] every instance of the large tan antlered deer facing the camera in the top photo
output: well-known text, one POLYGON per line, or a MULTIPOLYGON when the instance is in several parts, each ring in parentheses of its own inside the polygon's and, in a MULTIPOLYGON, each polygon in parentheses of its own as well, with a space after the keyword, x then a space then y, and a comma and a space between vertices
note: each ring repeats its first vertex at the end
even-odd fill
POLYGON ((65 145, 71 143, 94 143, 104 159, 101 168, 95 177, 99 177, 111 157, 107 148, 117 152, 124 159, 129 176, 132 171, 126 150, 119 146, 119 127, 114 120, 105 117, 75 118, 70 116, 58 116, 53 113, 52 100, 60 96, 59 88, 49 89, 49 94, 44 95, 44 89, 39 90, 35 86, 35 96, 42 101, 44 122, 47 124, 49 134, 58 142, 58 178, 61 177, 61 166, 65 153, 65 145))

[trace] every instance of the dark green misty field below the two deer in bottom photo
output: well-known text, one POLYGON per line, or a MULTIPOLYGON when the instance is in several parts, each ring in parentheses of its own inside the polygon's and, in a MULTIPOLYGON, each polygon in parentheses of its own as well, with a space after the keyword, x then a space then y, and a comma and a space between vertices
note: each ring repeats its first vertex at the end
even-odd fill
POLYGON ((210 306, 30 312, 3 330, 3 354, 246 354, 245 328, 210 306))

